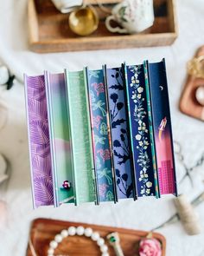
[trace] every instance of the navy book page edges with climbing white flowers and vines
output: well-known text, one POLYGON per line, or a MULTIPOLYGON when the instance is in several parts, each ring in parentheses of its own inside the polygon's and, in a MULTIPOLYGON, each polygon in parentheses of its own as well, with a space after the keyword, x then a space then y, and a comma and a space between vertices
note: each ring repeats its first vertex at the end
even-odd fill
POLYGON ((137 196, 156 195, 143 65, 124 65, 124 72, 137 196))

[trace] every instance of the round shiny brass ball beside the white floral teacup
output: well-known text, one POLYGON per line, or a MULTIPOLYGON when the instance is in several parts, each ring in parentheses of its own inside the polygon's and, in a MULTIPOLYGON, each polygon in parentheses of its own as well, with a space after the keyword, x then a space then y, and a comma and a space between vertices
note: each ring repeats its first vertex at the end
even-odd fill
POLYGON ((79 36, 88 36, 97 30, 99 16, 92 7, 74 10, 69 16, 69 27, 79 36))

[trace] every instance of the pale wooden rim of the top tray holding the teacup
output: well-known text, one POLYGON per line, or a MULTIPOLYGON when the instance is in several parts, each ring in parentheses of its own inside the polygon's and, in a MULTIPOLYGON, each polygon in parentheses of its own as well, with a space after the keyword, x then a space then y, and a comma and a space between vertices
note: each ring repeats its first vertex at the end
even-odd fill
POLYGON ((38 21, 35 13, 35 1, 29 0, 29 45, 30 49, 37 53, 80 51, 96 49, 127 49, 137 47, 166 46, 175 42, 178 36, 177 23, 175 18, 175 0, 169 1, 172 6, 171 16, 173 17, 172 32, 155 34, 138 34, 126 36, 99 36, 71 39, 55 39, 50 41, 39 41, 38 21), (133 42, 132 42, 133 41, 133 42), (112 42, 112 43, 110 43, 112 42), (125 42, 125 43, 124 43, 125 42))

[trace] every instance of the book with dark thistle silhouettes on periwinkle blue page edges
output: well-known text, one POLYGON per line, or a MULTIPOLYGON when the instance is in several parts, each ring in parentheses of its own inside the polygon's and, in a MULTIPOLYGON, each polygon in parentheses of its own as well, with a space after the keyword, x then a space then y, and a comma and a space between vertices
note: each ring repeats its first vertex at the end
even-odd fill
POLYGON ((127 133, 127 116, 124 102, 124 81, 121 68, 106 69, 108 101, 112 124, 112 148, 118 198, 133 196, 130 137, 127 133))

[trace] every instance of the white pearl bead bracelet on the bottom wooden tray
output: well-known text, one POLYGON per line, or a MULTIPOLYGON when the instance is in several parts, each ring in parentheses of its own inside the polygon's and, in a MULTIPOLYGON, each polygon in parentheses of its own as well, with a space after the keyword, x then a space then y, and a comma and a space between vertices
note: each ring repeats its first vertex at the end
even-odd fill
POLYGON ((102 253, 101 256, 109 256, 108 246, 105 245, 105 240, 100 237, 98 232, 93 232, 91 227, 84 228, 84 226, 70 226, 68 229, 63 229, 61 233, 56 234, 54 240, 49 243, 48 256, 54 256, 54 250, 58 244, 67 236, 73 235, 85 235, 91 238, 99 246, 100 252, 102 253))

